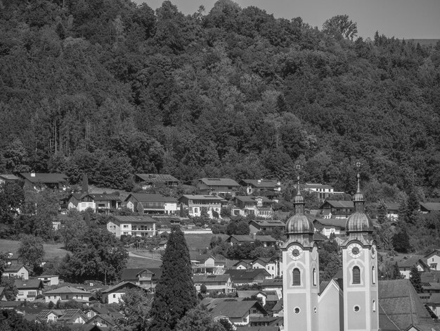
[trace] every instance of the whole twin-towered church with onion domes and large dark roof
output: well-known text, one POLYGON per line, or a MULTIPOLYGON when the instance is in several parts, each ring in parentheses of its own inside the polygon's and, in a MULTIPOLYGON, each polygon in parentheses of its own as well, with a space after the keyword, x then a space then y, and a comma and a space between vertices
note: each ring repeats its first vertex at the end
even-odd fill
POLYGON ((357 182, 347 239, 340 245, 342 277, 330 282, 319 280, 315 229, 299 190, 294 198, 295 215, 287 220, 282 247, 284 330, 440 330, 408 280, 378 281, 373 223, 363 208, 359 174, 357 182))

